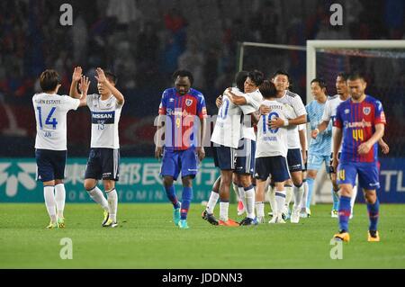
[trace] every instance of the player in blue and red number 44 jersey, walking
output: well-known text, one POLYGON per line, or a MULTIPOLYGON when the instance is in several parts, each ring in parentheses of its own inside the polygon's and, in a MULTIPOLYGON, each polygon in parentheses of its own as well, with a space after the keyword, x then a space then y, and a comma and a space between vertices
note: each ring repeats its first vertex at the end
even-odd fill
POLYGON ((377 142, 382 139, 386 124, 383 104, 365 94, 367 84, 365 77, 359 73, 348 76, 347 86, 351 98, 338 105, 335 121, 337 129, 333 137, 333 167, 338 170, 341 193, 338 210, 340 231, 334 238, 350 240, 348 234, 350 198, 358 175, 359 187, 363 188, 370 219, 368 241, 380 241, 377 231, 380 205, 376 195, 376 189, 380 187, 377 142), (342 152, 338 158, 341 144, 342 152))

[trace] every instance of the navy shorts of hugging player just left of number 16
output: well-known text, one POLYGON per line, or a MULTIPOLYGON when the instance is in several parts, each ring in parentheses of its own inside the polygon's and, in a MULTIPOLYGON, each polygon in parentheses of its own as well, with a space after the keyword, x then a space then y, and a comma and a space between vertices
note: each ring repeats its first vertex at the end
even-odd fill
POLYGON ((256 141, 240 139, 236 149, 236 163, 234 173, 238 175, 255 174, 256 141))

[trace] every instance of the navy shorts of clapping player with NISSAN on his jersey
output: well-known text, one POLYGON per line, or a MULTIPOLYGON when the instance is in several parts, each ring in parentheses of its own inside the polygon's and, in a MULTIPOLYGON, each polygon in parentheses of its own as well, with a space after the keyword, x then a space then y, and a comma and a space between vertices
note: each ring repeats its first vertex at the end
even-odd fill
POLYGON ((120 178, 120 149, 91 148, 85 166, 85 178, 117 182, 120 178))

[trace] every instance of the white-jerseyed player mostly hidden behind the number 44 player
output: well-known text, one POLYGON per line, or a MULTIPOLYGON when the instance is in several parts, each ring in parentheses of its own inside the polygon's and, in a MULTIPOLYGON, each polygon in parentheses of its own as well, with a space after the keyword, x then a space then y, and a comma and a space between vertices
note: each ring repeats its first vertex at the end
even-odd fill
MULTIPOLYGON (((318 125, 318 128, 315 130, 311 131, 311 138, 316 139, 320 132, 323 132, 326 130, 329 126, 329 122, 332 121, 332 135, 335 133, 336 127, 334 124, 334 121, 336 119, 336 112, 338 109, 338 105, 340 103, 343 103, 347 101, 350 98, 349 90, 347 87, 347 73, 339 73, 337 78, 336 78, 336 90, 338 94, 335 94, 334 96, 331 96, 328 98, 327 102, 325 103, 325 109, 322 115, 322 121, 318 125)), ((388 145, 383 141, 383 139, 380 139, 378 141, 379 145, 383 148, 383 153, 386 154, 389 152, 389 147, 388 145)), ((331 156, 330 158, 333 158, 333 140, 331 142, 331 156)), ((340 156, 339 151, 339 155, 340 156)), ((338 184, 337 184, 337 176, 336 176, 336 171, 333 169, 332 162, 330 161, 329 165, 329 175, 330 179, 332 181, 332 196, 333 196, 333 206, 332 206, 332 211, 331 217, 332 218, 338 218, 338 202, 339 202, 339 197, 338 197, 338 184)), ((353 218, 353 208, 355 206, 356 202, 356 195, 357 195, 357 185, 353 187, 353 193, 352 193, 352 198, 351 198, 351 213, 350 213, 350 219, 353 218)))

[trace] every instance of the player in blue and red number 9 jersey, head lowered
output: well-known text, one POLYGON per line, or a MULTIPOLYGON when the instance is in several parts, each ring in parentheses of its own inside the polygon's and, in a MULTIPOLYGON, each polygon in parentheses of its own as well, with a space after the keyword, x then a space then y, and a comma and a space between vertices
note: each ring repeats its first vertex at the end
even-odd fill
POLYGON ((159 105, 155 157, 163 159, 163 176, 167 198, 173 204, 173 221, 180 229, 188 229, 187 213, 193 199, 193 178, 199 161, 205 157, 204 127, 207 117, 202 93, 191 88, 193 75, 187 70, 173 74, 175 87, 166 89, 159 105), (165 127, 162 129, 162 123, 165 127), (165 143, 161 131, 165 131, 165 143), (182 174, 182 202, 178 202, 173 182, 182 174))

